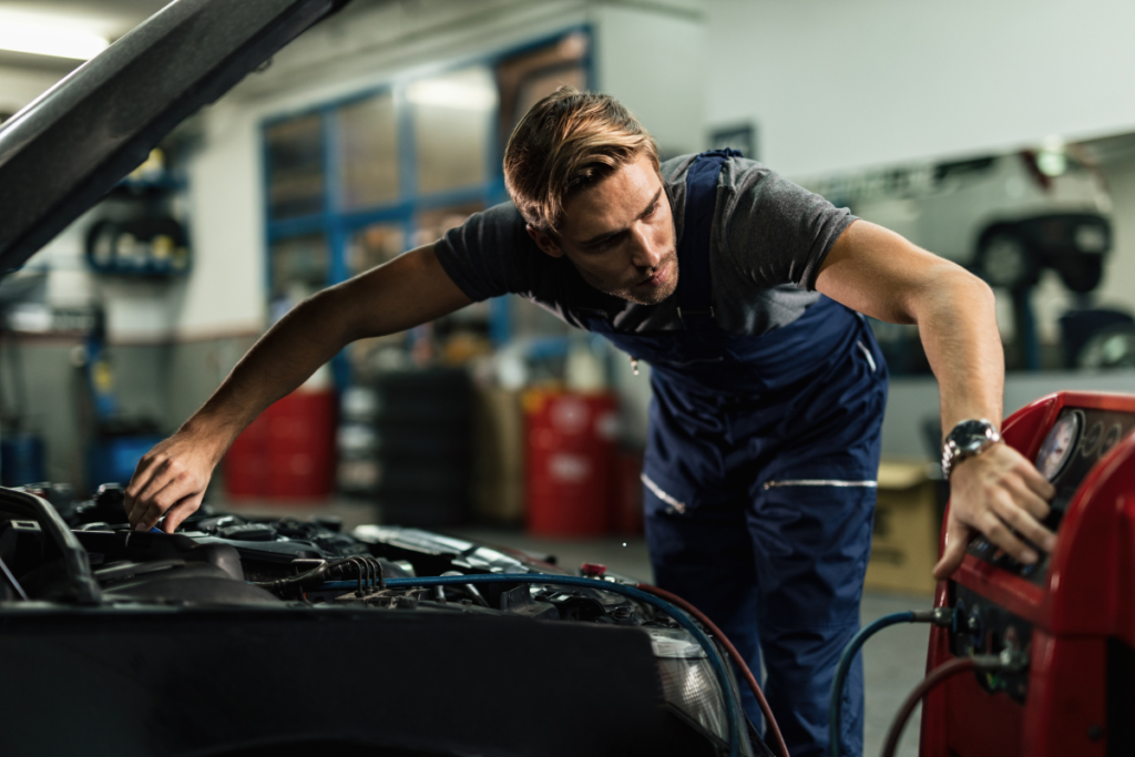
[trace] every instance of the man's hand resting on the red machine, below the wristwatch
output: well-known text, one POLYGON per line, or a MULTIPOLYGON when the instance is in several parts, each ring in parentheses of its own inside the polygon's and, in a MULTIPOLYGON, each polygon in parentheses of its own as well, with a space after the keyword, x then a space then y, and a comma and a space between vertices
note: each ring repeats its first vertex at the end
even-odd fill
POLYGON ((1057 537, 1041 521, 1054 495, 1036 468, 1004 443, 958 462, 950 474, 945 550, 934 566, 934 578, 944 580, 961 565, 975 530, 1025 564, 1040 556, 1022 537, 1052 552, 1057 537))

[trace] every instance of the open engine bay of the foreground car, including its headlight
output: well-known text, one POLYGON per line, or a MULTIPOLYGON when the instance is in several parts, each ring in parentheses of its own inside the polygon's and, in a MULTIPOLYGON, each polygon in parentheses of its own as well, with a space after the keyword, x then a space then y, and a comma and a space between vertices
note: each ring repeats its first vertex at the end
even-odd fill
POLYGON ((748 721, 730 721, 739 690, 732 670, 714 659, 716 641, 692 621, 644 602, 649 598, 641 592, 636 598, 632 579, 585 569, 589 580, 555 565, 554 557, 420 529, 362 525, 348 533, 335 519, 249 518, 209 505, 175 533, 135 531, 117 485, 85 501, 66 486, 0 488, 0 625, 8 611, 15 616, 90 607, 124 616, 154 609, 306 611, 379 622, 414 616, 436 619, 438 628, 452 617, 455 633, 468 628, 461 619, 476 617, 634 629, 648 637, 657 672, 645 698, 657 696, 705 739, 706 754, 730 742, 741 745, 738 754, 771 754, 748 721), (738 726, 743 738, 730 735, 738 726))

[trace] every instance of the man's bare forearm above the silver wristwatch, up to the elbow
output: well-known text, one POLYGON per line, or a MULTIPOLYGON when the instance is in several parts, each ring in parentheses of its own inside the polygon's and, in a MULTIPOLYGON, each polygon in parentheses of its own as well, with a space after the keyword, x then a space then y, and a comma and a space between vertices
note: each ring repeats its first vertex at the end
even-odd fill
POLYGON ((970 418, 1000 428, 1004 356, 989 286, 944 263, 910 309, 938 378, 943 434, 970 418))

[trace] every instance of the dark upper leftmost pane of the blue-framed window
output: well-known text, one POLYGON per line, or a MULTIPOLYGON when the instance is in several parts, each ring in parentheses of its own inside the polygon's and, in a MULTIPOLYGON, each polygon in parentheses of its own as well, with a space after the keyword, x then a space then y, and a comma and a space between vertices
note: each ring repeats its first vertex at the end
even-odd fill
POLYGON ((272 218, 323 209, 322 121, 304 116, 268 128, 268 202, 272 218))

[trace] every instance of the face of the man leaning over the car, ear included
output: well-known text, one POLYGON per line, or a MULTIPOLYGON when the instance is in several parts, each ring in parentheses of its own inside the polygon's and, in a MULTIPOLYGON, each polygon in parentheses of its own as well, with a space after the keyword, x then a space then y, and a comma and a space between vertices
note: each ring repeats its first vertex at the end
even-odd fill
POLYGON ((654 305, 678 288, 670 200, 645 154, 572 197, 556 236, 531 226, 528 233, 553 258, 566 255, 600 292, 654 305))

